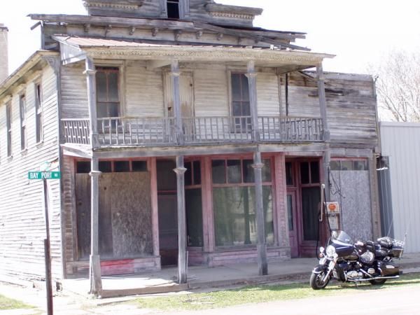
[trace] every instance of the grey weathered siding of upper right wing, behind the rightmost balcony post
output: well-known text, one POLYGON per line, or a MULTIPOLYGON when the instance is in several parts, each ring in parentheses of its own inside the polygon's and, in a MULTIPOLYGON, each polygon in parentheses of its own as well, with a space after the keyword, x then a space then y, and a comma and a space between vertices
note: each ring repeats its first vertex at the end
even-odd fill
MULTIPOLYGON (((311 76, 314 73, 308 72, 311 76)), ((335 146, 377 146, 377 109, 372 77, 325 73, 328 127, 335 146)), ((290 116, 320 117, 316 80, 293 73, 290 116)))

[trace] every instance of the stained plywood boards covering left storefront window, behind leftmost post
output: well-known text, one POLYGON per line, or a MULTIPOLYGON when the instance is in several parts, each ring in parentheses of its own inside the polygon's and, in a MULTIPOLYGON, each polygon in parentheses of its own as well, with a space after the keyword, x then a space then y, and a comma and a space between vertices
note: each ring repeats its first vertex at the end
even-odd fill
MULTIPOLYGON (((76 174, 78 258, 90 253, 90 177, 76 174)), ((149 172, 104 173, 99 179, 99 254, 102 258, 153 255, 149 172)))

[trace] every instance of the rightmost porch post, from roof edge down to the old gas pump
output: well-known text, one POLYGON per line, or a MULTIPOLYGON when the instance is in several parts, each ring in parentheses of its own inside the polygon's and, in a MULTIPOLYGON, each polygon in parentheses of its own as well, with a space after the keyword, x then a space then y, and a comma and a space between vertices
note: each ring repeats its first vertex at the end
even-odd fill
POLYGON ((325 100, 325 77, 323 74, 322 64, 316 66, 316 76, 318 80, 319 109, 321 111, 321 119, 323 125, 323 141, 325 141, 325 144, 327 146, 323 155, 323 178, 325 183, 326 199, 329 201, 331 197, 329 176, 329 168, 331 162, 330 129, 328 128, 327 102, 325 100))

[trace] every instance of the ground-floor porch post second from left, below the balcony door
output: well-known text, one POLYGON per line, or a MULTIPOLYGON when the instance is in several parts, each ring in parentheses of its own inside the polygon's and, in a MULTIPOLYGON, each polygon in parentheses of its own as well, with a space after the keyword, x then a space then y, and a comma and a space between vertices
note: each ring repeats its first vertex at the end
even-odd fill
POLYGON ((183 156, 176 157, 176 200, 178 204, 178 282, 187 283, 186 194, 183 156))

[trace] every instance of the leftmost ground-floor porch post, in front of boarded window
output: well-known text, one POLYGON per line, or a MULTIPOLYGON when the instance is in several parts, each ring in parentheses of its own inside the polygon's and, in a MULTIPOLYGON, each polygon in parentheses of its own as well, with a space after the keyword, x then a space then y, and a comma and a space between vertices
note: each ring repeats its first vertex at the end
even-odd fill
POLYGON ((99 160, 92 157, 90 172, 90 294, 100 295, 102 290, 101 259, 99 258, 99 160))

